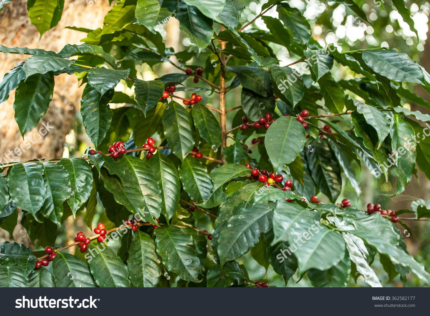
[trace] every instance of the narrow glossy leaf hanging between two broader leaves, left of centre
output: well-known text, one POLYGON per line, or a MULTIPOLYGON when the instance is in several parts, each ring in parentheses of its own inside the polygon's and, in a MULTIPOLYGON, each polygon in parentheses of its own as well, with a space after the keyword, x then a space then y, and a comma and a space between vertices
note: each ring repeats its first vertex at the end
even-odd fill
POLYGON ((179 204, 181 182, 178 170, 173 162, 160 151, 157 151, 148 160, 147 165, 154 172, 155 179, 158 181, 162 198, 161 212, 169 221, 179 204))

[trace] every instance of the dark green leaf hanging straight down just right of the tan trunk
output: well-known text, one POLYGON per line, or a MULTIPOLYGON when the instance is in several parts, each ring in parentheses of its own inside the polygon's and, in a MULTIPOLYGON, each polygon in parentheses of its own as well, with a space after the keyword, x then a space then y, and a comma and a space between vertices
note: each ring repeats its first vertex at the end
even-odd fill
POLYGON ((112 110, 109 101, 114 90, 108 90, 103 96, 91 85, 87 84, 82 93, 81 115, 85 131, 97 148, 106 136, 112 121, 112 110))

